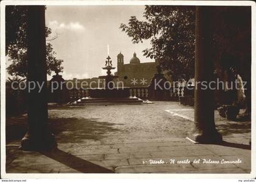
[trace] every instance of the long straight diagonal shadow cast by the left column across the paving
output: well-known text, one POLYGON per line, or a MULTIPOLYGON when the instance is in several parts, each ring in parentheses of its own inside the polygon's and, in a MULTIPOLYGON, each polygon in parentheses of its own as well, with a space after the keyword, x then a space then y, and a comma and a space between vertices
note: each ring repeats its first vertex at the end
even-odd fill
POLYGON ((71 155, 70 153, 66 153, 57 148, 51 152, 41 152, 41 154, 82 173, 114 173, 112 170, 78 158, 77 156, 71 155))

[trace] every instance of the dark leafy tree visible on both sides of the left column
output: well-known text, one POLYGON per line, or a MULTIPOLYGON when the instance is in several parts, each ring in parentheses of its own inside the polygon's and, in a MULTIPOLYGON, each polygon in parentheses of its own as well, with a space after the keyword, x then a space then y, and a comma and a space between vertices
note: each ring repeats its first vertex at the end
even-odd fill
MULTIPOLYGON (((5 54, 9 55, 12 64, 7 68, 10 75, 27 76, 27 6, 8 5, 5 10, 5 54)), ((46 27, 46 38, 51 35, 51 29, 46 27)), ((57 37, 49 40, 54 40, 57 37)), ((46 43, 47 74, 52 71, 62 72, 63 60, 55 57, 52 44, 46 43)))

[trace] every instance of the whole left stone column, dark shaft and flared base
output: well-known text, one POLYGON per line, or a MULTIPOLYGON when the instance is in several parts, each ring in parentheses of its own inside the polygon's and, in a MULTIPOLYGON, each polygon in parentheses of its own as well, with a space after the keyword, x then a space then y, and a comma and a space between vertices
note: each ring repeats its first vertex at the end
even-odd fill
POLYGON ((27 81, 38 84, 28 93, 29 129, 21 141, 23 150, 48 150, 55 146, 48 127, 46 37, 44 5, 29 5, 27 15, 27 81))

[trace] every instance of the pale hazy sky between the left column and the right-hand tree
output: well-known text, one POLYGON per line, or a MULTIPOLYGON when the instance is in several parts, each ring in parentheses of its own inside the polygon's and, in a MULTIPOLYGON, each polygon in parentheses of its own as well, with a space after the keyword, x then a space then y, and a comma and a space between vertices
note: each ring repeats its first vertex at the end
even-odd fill
POLYGON ((124 63, 129 63, 134 51, 141 62, 152 61, 142 54, 144 49, 151 47, 149 41, 132 44, 131 38, 119 29, 130 16, 143 19, 143 12, 144 6, 141 5, 48 6, 46 26, 51 27, 52 37, 55 32, 58 34, 51 43, 57 58, 64 60, 63 78, 84 79, 102 75, 107 44, 114 66, 120 51, 124 63))

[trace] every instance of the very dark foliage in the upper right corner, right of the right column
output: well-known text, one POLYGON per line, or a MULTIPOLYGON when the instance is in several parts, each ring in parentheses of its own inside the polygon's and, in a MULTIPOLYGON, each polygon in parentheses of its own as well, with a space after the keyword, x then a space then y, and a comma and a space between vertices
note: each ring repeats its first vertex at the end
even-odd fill
POLYGON ((251 77, 251 8, 215 7, 213 24, 216 64, 251 77))

